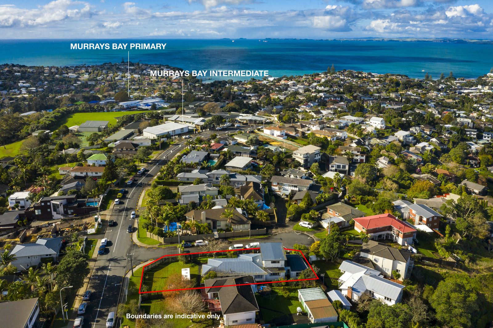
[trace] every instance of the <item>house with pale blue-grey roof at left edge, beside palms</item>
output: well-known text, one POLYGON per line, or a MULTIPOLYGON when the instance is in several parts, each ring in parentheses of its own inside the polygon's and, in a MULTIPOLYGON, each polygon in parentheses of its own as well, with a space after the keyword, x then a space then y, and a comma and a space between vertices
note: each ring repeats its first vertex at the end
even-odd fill
POLYGON ((35 243, 17 244, 10 251, 15 255, 15 266, 18 270, 28 270, 46 260, 56 262, 60 255, 62 238, 38 238, 35 243))

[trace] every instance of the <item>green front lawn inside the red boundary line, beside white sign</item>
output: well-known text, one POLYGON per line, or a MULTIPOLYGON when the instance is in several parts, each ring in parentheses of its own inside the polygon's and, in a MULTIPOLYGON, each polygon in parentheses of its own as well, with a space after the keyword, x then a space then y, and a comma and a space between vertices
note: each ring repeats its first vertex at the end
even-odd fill
POLYGON ((174 273, 181 276, 181 269, 190 268, 190 280, 200 282, 199 266, 195 263, 183 264, 181 262, 162 263, 146 272, 142 280, 142 287, 147 286, 148 291, 162 291, 166 289, 168 277, 174 273))

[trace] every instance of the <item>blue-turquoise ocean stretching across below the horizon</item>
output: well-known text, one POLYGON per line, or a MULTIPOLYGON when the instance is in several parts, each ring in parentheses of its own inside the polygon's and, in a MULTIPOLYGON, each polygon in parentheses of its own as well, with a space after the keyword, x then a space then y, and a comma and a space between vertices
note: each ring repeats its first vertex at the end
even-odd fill
POLYGON ((450 71, 476 78, 493 66, 493 45, 426 41, 326 41, 258 39, 0 40, 0 64, 94 65, 127 60, 127 50, 70 50, 72 42, 162 42, 165 50, 131 50, 130 61, 188 70, 269 70, 271 76, 337 70, 398 73, 433 78, 450 71))

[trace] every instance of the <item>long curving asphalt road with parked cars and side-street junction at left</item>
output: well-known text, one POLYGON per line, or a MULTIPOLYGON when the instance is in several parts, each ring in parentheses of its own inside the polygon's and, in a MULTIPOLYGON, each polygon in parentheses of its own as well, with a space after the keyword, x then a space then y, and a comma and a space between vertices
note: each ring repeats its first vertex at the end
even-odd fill
MULTIPOLYGON (((212 133, 224 136, 234 130, 251 130, 255 128, 246 126, 225 131, 204 131, 192 136, 204 138, 209 137, 212 133)), ((90 279, 88 289, 93 291, 93 294, 84 314, 85 328, 106 327, 108 313, 116 312, 117 304, 123 296, 122 284, 126 283, 123 277, 131 268, 130 258, 132 258, 132 263, 136 265, 150 259, 157 259, 166 254, 176 254, 176 248, 174 247, 154 249, 137 247, 132 242, 130 233, 127 233, 127 227, 133 224, 133 219, 130 219, 130 213, 135 211, 144 186, 150 183, 152 177, 159 172, 161 166, 166 164, 168 159, 171 160, 185 147, 185 140, 181 138, 179 140, 179 143, 167 148, 147 165, 149 171, 145 175, 138 177, 137 184, 134 183, 133 186, 127 187, 128 193, 121 199, 119 205, 113 207, 108 220, 114 220, 116 225, 108 227, 105 232, 104 237, 108 239, 106 254, 98 256, 90 279)), ((119 322, 116 323, 115 327, 118 327, 118 325, 119 322)))

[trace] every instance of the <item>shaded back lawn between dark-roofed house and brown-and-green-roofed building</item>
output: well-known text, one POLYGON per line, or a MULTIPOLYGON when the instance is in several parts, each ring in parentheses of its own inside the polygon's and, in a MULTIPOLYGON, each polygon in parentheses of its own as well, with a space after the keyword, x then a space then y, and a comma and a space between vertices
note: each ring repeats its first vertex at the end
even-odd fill
POLYGON ((289 295, 281 295, 279 287, 272 287, 270 295, 262 296, 255 294, 257 304, 260 308, 260 313, 266 323, 284 315, 295 314, 296 308, 301 307, 298 300, 298 291, 295 287, 285 287, 289 291, 289 295))

